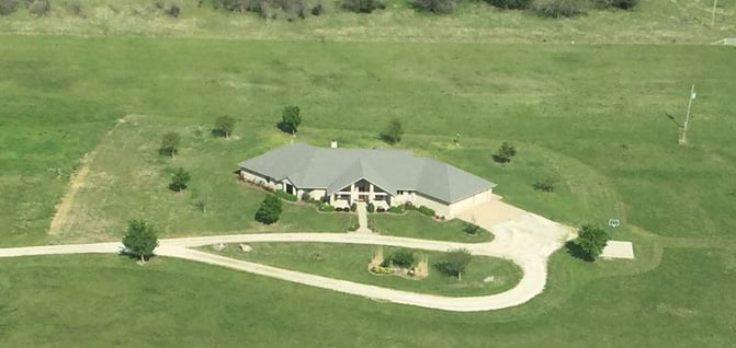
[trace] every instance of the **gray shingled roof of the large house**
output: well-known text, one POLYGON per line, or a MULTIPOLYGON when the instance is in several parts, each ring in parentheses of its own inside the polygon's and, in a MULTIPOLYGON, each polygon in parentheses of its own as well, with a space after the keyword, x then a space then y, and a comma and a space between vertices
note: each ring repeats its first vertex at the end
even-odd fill
POLYGON ((288 178, 299 188, 324 188, 328 195, 361 178, 392 194, 416 190, 445 202, 496 186, 446 163, 414 156, 407 150, 329 149, 294 143, 240 162, 239 166, 276 181, 288 178))

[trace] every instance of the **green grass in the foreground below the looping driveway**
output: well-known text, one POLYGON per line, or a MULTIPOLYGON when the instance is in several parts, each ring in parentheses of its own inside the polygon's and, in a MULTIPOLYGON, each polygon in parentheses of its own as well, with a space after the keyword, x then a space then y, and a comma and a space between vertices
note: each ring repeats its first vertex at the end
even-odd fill
POLYGON ((654 250, 595 264, 559 252, 544 294, 482 313, 376 303, 177 259, 0 259, 0 334, 11 347, 728 347, 733 251, 654 250), (652 269, 655 254, 663 259, 652 269))

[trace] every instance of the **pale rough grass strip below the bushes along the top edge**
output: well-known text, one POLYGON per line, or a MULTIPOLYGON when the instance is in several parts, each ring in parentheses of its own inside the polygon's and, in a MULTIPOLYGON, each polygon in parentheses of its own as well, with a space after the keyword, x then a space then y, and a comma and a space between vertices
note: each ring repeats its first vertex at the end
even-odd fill
POLYGON ((207 1, 185 0, 169 18, 151 1, 82 0, 84 16, 64 2, 37 18, 25 10, 0 21, 1 32, 23 34, 147 35, 248 39, 354 42, 464 42, 570 44, 710 44, 734 36, 736 7, 720 1, 711 26, 711 0, 639 1, 633 11, 590 11, 574 19, 544 19, 532 12, 502 11, 483 1, 461 1, 450 15, 418 13, 410 1, 386 1, 372 14, 348 13, 340 1, 325 1, 327 13, 302 21, 264 21, 257 14, 213 10, 207 1), (202 3, 200 7, 199 4, 202 3))

